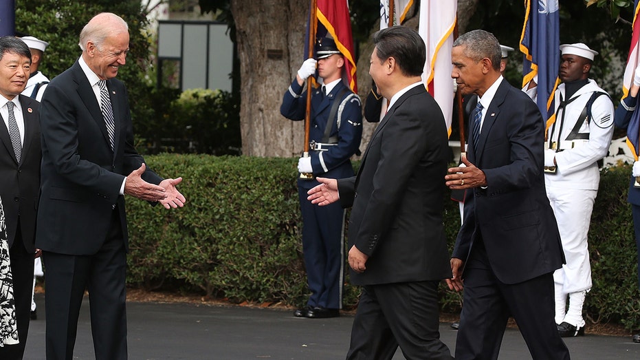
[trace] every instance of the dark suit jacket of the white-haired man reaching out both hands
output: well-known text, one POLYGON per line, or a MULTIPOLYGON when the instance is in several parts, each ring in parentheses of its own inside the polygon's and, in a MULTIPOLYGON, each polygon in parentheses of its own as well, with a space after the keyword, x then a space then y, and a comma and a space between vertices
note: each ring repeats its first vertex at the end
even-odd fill
MULTIPOLYGON (((98 100, 78 61, 56 76, 41 105, 42 193, 36 246, 43 251, 91 255, 104 242, 118 207, 127 245, 124 176, 144 160, 133 147, 129 100, 121 81, 107 81, 115 120, 115 149, 98 100)), ((159 184, 155 173, 143 178, 159 184)))

